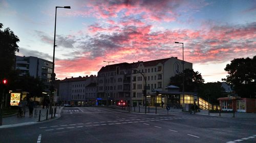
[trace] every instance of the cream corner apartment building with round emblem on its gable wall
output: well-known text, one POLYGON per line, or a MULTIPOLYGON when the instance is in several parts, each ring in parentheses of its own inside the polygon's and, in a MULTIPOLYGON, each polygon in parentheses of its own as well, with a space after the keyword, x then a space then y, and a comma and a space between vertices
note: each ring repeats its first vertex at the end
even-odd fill
MULTIPOLYGON (((181 73, 183 70, 182 60, 174 57, 146 62, 139 61, 133 63, 132 68, 134 69, 131 83, 133 106, 144 105, 145 97, 142 90, 144 90, 145 83, 148 105, 155 103, 160 105, 162 101, 166 101, 160 95, 156 97, 156 91, 166 91, 165 87, 170 82, 170 77, 181 73)), ((184 69, 192 68, 192 63, 184 62, 184 69)))

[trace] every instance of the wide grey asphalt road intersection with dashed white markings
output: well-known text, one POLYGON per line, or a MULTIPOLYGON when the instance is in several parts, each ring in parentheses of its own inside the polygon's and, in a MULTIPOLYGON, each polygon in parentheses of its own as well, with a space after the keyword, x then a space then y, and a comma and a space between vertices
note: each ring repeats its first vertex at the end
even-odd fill
POLYGON ((0 142, 256 142, 255 119, 65 107, 57 120, 0 129, 0 142))

